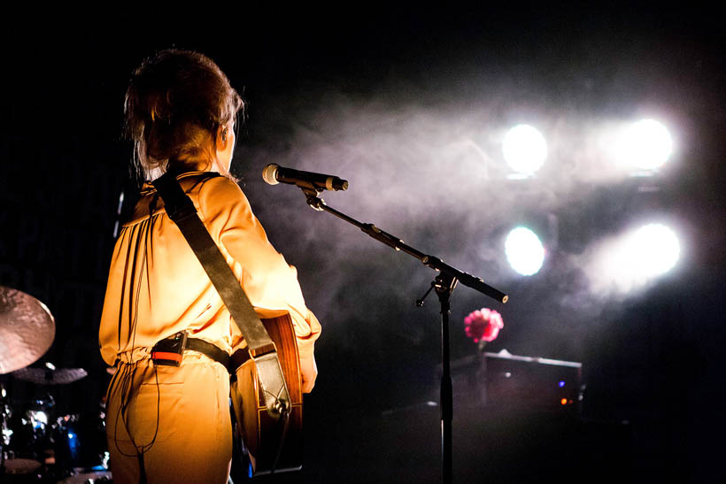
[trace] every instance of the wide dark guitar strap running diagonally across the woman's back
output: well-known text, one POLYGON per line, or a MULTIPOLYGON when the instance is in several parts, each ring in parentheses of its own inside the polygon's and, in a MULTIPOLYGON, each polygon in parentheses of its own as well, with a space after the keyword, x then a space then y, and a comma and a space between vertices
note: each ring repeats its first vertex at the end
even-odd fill
MULTIPOLYGON (((210 173, 208 176, 221 175, 210 173)), ((257 367, 267 413, 273 419, 279 419, 290 411, 290 394, 282 376, 274 342, 267 334, 235 273, 222 256, 220 248, 212 240, 212 235, 199 218, 194 203, 184 193, 174 173, 165 173, 152 184, 164 200, 166 214, 182 231, 182 235, 189 242, 189 246, 242 332, 250 357, 257 367)))

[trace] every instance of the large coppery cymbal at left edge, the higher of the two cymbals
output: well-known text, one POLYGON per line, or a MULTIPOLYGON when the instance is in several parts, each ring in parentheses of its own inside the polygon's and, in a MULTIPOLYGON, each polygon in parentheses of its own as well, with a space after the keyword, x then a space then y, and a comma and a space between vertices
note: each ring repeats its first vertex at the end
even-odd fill
POLYGON ((0 374, 35 363, 55 336, 56 323, 45 304, 0 286, 0 374))

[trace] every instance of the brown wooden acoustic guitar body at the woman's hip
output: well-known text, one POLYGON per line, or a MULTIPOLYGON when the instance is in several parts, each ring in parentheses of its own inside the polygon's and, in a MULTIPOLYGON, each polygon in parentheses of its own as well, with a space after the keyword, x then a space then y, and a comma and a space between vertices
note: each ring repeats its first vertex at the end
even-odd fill
MULTIPOLYGON (((254 362, 247 359, 237 368, 232 403, 254 476, 299 471, 303 465, 303 382, 292 320, 285 315, 262 319, 262 324, 277 348, 292 410, 287 419, 270 417, 254 362)), ((246 354, 247 350, 241 352, 246 354)))

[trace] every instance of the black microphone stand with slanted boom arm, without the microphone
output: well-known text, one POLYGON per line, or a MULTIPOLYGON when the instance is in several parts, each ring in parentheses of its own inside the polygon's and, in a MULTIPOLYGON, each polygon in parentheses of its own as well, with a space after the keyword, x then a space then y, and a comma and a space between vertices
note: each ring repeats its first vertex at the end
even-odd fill
POLYGON ((506 303, 509 296, 492 288, 482 279, 471 274, 461 272, 459 269, 445 264, 438 257, 424 254, 420 250, 416 250, 410 245, 405 244, 395 235, 391 235, 375 227, 373 224, 364 224, 356 219, 348 217, 343 212, 336 211, 328 207, 325 201, 318 197, 322 188, 304 188, 300 187, 305 193, 305 201, 313 210, 327 211, 335 215, 338 219, 359 227, 360 230, 373 237, 376 241, 388 245, 393 250, 401 250, 406 254, 416 257, 423 265, 427 265, 434 269, 438 274, 431 282, 431 287, 421 299, 416 301, 416 305, 422 306, 423 300, 429 295, 432 289, 436 291, 439 304, 441 306, 441 465, 442 465, 442 482, 451 484, 452 482, 452 419, 453 419, 453 396, 452 396, 452 374, 449 355, 449 314, 451 305, 449 303, 453 290, 458 282, 461 282, 469 288, 473 288, 481 292, 485 296, 500 303, 506 303))

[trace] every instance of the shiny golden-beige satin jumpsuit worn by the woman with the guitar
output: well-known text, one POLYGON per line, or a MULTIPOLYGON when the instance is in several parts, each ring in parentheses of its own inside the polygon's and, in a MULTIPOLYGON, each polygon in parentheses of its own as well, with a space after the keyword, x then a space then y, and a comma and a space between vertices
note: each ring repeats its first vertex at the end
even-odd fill
MULTIPOLYGON (((261 318, 290 313, 304 387, 316 377, 321 326, 294 267, 274 250, 242 190, 224 177, 178 176, 261 318)), ((156 190, 146 185, 113 251, 99 330, 101 355, 117 365, 106 434, 113 481, 223 483, 231 460, 226 369, 194 351, 178 368, 153 365, 156 342, 179 331, 232 353, 245 345, 216 289, 156 190)))

